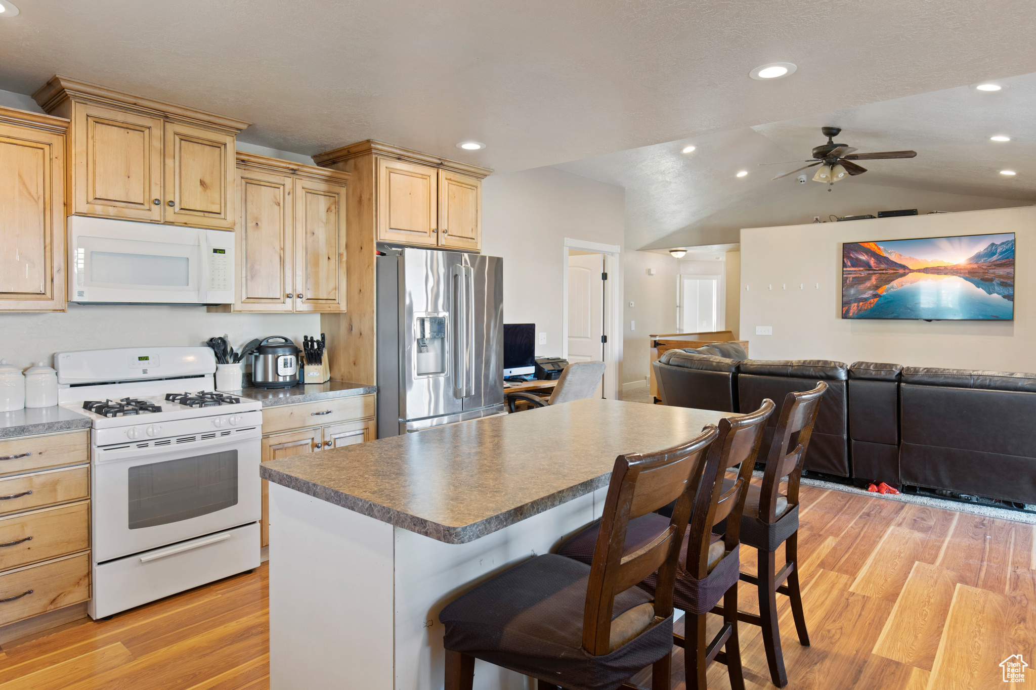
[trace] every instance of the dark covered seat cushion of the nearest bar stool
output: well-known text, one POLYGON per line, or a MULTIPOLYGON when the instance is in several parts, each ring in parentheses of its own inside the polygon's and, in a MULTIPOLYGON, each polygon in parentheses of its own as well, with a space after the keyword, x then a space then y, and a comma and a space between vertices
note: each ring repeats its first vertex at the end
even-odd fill
MULTIPOLYGON (((666 520, 668 523, 668 520, 666 520)), ((582 649, 589 566, 545 553, 506 570, 439 613, 443 647, 569 690, 615 690, 672 648, 672 617, 656 619, 651 595, 615 597, 611 651, 582 649)))

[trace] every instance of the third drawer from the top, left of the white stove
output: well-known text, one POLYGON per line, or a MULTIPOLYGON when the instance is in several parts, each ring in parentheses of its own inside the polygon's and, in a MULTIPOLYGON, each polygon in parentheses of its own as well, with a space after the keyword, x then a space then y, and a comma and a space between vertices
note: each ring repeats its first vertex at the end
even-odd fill
POLYGON ((90 502, 0 519, 0 570, 90 547, 90 502))

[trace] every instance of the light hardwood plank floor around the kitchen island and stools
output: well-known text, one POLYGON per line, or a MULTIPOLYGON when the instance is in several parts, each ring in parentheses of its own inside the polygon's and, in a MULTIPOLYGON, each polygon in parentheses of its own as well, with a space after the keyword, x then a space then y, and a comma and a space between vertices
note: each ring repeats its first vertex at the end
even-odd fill
MULTIPOLYGON (((802 496, 812 646, 799 644, 779 596, 789 689, 1013 687, 1000 662, 1020 654, 1032 663, 1036 646, 1033 526, 811 486, 802 496)), ((754 572, 750 549, 742 569, 754 572)), ((4 644, 0 690, 265 690, 266 583, 264 565, 112 621, 4 644)), ((758 610, 750 586, 741 601, 758 610)), ((758 629, 740 630, 747 687, 773 688, 758 629)), ((674 690, 684 688, 682 655, 674 690)), ((713 664, 709 684, 728 688, 726 667, 713 664)))

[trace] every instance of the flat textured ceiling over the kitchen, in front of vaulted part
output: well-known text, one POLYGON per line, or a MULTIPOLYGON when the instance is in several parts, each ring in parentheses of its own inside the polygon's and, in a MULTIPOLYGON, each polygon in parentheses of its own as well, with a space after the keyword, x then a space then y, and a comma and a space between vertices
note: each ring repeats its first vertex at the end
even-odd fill
POLYGON ((1036 71, 1031 32, 1005 27, 1036 3, 1016 0, 17 4, 0 89, 61 73, 254 122, 242 141, 277 149, 373 138, 500 172, 1036 71), (747 78, 783 60, 792 78, 747 78))

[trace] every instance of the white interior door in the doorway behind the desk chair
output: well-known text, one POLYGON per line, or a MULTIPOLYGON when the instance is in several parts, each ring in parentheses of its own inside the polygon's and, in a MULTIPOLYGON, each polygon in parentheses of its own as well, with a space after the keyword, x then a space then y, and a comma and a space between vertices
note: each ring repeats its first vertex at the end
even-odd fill
MULTIPOLYGON (((569 362, 604 361, 602 273, 604 254, 569 256, 569 362)), ((598 386, 598 396, 602 386, 598 386)))

